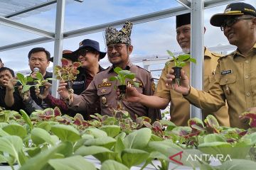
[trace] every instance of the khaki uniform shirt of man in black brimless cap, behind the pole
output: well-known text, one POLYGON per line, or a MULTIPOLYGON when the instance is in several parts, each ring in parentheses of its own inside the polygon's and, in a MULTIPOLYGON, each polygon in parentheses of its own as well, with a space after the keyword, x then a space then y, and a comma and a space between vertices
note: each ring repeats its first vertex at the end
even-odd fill
MULTIPOLYGON (((220 59, 219 54, 210 52, 207 48, 205 50, 204 56, 204 91, 209 90, 210 79, 213 78, 215 74, 216 65, 218 64, 218 59, 220 59)), ((168 98, 171 101, 170 115, 171 121, 176 125, 186 126, 188 125, 188 119, 190 118, 190 103, 183 97, 182 94, 177 93, 171 88, 167 88, 166 84, 166 74, 170 72, 171 67, 174 67, 174 62, 171 62, 168 66, 164 67, 159 83, 156 88, 156 96, 161 98, 168 98)), ((190 77, 190 63, 187 63, 183 70, 186 72, 188 78, 190 77)), ((230 126, 228 117, 228 108, 223 106, 216 113, 210 112, 208 110, 203 110, 203 117, 208 114, 213 114, 218 119, 220 125, 230 126)))

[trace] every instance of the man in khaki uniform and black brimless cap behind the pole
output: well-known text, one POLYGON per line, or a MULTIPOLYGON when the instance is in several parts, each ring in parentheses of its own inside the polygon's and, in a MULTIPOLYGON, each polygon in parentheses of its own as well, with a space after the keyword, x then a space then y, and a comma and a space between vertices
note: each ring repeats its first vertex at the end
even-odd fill
MULTIPOLYGON (((190 42, 191 42, 191 14, 186 13, 180 16, 176 16, 176 39, 178 44, 181 46, 183 52, 190 53, 190 42)), ((204 69, 204 90, 208 91, 210 79, 215 74, 215 68, 218 64, 218 59, 221 55, 210 52, 205 48, 205 69, 204 69)), ((188 125, 188 119, 190 118, 190 104, 182 96, 182 94, 177 93, 170 87, 166 87, 166 74, 169 73, 171 67, 174 67, 174 62, 171 62, 168 66, 164 67, 159 83, 157 84, 156 92, 154 96, 143 96, 137 94, 136 91, 129 92, 131 94, 128 101, 141 102, 145 106, 154 108, 165 108, 169 102, 171 102, 170 115, 171 121, 176 125, 188 125), (133 94, 132 94, 133 93, 133 94), (135 97, 137 96, 137 98, 135 97)), ((190 63, 187 63, 185 67, 187 74, 190 75, 190 63)), ((206 114, 214 114, 218 119, 220 125, 230 126, 228 118, 228 108, 223 106, 217 113, 210 111, 203 111, 205 117, 206 114)))

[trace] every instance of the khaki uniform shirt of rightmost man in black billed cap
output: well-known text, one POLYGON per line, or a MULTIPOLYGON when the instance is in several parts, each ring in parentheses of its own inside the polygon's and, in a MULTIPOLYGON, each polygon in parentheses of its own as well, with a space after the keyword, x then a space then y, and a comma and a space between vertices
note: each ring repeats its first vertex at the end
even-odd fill
POLYGON ((205 93, 191 87, 186 98, 200 108, 217 110, 228 103, 230 126, 249 128, 247 121, 239 115, 247 108, 256 106, 256 44, 247 56, 238 50, 221 57, 211 82, 210 91, 205 93))

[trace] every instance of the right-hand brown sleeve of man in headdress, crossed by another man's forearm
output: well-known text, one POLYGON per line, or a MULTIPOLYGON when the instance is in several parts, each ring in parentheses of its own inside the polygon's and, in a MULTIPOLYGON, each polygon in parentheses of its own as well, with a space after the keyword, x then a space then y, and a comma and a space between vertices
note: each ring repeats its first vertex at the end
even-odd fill
MULTIPOLYGON (((154 79, 151 76, 151 73, 148 72, 145 82, 146 84, 144 94, 147 96, 153 96, 155 91, 155 84, 154 79)), ((154 121, 156 120, 161 120, 160 109, 148 108, 148 117, 151 119, 151 123, 154 123, 154 121)))

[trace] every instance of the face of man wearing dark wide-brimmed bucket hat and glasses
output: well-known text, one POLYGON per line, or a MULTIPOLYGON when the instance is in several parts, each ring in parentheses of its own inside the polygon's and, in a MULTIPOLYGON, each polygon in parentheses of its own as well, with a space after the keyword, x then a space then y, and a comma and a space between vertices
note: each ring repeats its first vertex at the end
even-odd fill
POLYGON ((78 62, 81 62, 81 67, 85 69, 98 65, 99 57, 100 54, 98 52, 92 52, 91 50, 86 49, 78 51, 78 62))

